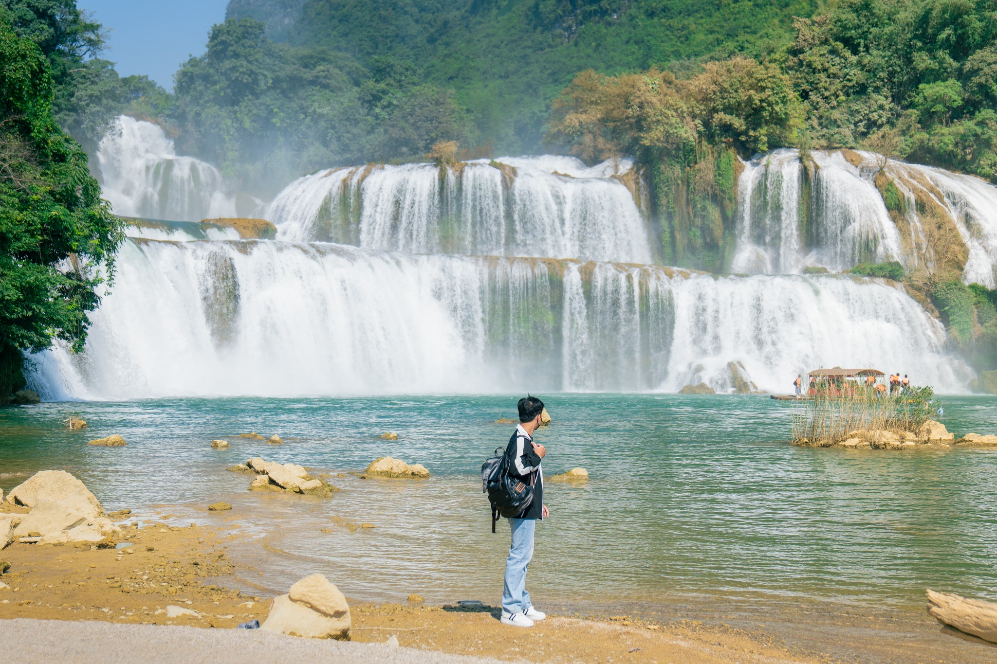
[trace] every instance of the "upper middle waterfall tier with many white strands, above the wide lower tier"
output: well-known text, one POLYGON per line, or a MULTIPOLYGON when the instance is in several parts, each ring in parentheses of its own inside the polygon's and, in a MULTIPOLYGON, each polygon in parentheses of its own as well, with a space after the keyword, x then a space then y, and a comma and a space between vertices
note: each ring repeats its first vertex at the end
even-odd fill
MULTIPOLYGON (((270 205, 278 238, 415 254, 653 262, 632 162, 502 157, 450 166, 367 165, 289 184, 270 205)), ((646 207, 646 205, 644 206, 646 207)))

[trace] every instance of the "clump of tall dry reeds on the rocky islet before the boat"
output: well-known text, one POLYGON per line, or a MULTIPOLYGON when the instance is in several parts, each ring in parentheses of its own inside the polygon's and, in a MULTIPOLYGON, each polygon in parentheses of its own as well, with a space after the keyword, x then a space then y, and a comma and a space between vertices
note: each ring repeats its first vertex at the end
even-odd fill
POLYGON ((819 392, 797 402, 793 442, 833 445, 853 431, 910 431, 938 416, 931 387, 910 387, 894 396, 877 396, 859 387, 851 394, 819 392))

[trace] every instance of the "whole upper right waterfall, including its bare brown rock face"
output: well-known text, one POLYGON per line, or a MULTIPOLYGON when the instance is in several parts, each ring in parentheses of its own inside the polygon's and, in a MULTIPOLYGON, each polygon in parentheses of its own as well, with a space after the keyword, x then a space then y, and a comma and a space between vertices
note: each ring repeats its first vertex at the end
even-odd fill
POLYGON ((738 195, 733 273, 949 261, 966 283, 997 285, 997 187, 977 177, 869 152, 814 151, 804 162, 780 149, 745 163, 738 195))

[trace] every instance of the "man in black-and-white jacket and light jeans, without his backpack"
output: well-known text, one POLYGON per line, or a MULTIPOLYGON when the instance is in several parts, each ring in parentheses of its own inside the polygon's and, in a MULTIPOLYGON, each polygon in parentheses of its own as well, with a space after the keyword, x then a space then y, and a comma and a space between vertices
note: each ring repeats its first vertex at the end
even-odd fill
POLYGON ((521 514, 508 520, 512 544, 505 559, 505 586, 501 595, 501 621, 515 627, 532 627, 547 617, 533 608, 526 591, 526 567, 533 557, 536 520, 549 516, 543 504, 543 470, 540 459, 546 455, 542 445, 533 442, 533 432, 540 425, 543 402, 535 396, 519 399, 519 425, 509 438, 505 454, 510 461, 508 474, 533 486, 533 501, 521 514))

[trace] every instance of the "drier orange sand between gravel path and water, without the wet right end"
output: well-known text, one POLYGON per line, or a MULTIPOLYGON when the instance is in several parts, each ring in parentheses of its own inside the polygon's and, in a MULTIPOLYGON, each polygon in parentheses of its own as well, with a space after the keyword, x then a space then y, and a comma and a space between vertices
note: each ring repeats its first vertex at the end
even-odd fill
MULTIPOLYGON (((16 543, 0 553, 11 565, 2 576, 10 587, 0 590, 0 619, 231 628, 266 617, 270 593, 253 588, 251 570, 225 551, 226 542, 240 537, 237 533, 157 522, 142 522, 139 528, 130 517, 117 521, 131 545, 126 549, 16 543), (168 606, 194 613, 170 616, 168 606)), ((351 602, 351 612, 355 642, 383 643, 395 636, 403 647, 505 660, 817 661, 738 629, 696 622, 551 616, 523 630, 502 625, 498 609, 489 606, 351 602)))

